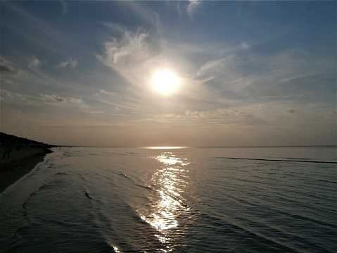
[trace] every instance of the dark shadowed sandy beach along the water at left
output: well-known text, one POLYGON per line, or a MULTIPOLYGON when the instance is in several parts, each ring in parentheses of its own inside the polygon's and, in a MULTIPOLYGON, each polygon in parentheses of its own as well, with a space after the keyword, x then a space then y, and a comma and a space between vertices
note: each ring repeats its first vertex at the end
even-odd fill
POLYGON ((0 193, 4 192, 44 159, 51 151, 38 147, 26 147, 20 150, 12 149, 9 159, 2 159, 4 147, 0 147, 0 193))

